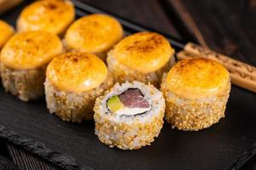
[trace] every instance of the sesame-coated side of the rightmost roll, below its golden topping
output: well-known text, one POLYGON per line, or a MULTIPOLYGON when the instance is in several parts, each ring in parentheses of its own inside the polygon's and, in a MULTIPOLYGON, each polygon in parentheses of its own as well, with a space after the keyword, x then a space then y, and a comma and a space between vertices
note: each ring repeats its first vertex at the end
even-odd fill
POLYGON ((184 99, 173 94, 166 85, 163 76, 161 91, 166 99, 166 122, 178 130, 198 131, 212 126, 224 117, 224 111, 230 95, 230 83, 223 93, 205 99, 184 99))

